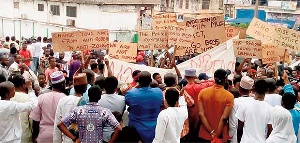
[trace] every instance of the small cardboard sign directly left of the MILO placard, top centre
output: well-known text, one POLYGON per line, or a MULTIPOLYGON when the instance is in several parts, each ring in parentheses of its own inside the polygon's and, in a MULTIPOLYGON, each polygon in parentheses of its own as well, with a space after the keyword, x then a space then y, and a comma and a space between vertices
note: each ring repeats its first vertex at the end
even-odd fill
POLYGON ((152 18, 154 30, 166 30, 169 25, 177 25, 177 16, 175 13, 154 15, 152 18))

